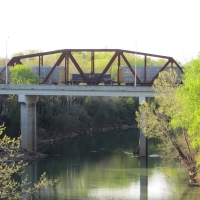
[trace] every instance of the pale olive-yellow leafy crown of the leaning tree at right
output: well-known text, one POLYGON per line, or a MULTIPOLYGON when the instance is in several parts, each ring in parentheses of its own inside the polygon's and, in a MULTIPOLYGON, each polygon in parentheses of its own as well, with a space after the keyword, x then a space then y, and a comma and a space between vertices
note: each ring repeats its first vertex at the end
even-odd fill
POLYGON ((147 137, 163 137, 164 132, 172 131, 169 121, 177 110, 174 95, 178 86, 175 84, 176 78, 169 76, 167 71, 160 73, 153 84, 154 100, 143 103, 136 114, 139 126, 147 137))

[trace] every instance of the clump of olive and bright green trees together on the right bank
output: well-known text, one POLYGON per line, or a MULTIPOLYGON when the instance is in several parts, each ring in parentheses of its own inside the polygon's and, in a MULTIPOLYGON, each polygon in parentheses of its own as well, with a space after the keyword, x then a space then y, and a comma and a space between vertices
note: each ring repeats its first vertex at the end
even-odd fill
POLYGON ((144 102, 137 112, 137 121, 144 134, 157 137, 162 143, 163 157, 180 161, 188 171, 193 185, 200 185, 199 177, 199 91, 200 59, 186 67, 183 84, 175 71, 162 72, 154 81, 155 98, 144 102))

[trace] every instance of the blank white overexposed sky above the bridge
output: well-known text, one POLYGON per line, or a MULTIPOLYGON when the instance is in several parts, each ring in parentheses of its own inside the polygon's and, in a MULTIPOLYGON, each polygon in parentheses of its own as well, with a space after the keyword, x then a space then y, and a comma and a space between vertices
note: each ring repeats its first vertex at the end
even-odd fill
POLYGON ((199 7, 200 0, 0 0, 0 57, 106 48, 186 63, 200 51, 199 7))

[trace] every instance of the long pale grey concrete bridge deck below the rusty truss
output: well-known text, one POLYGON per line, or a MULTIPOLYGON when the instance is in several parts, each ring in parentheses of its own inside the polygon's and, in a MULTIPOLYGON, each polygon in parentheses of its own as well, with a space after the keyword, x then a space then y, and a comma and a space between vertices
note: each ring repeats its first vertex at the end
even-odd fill
POLYGON ((153 97, 144 86, 0 85, 1 95, 153 97))

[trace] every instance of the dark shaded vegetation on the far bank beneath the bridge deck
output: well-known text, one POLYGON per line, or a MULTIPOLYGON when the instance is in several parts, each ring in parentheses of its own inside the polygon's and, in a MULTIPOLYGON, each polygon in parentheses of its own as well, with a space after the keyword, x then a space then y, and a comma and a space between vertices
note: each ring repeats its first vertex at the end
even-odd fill
MULTIPOLYGON (((16 96, 1 96, 1 119, 9 135, 20 135, 20 105, 16 96)), ((138 99, 132 97, 41 96, 37 103, 38 128, 49 137, 85 133, 88 129, 135 124, 138 99)))

